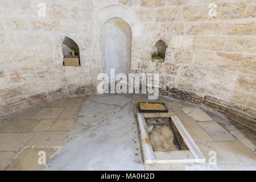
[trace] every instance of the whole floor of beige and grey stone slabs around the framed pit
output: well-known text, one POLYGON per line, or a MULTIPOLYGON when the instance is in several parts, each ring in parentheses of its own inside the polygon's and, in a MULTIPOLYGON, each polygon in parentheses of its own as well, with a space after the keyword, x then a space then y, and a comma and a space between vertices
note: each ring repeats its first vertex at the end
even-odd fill
POLYGON ((0 169, 256 170, 255 131, 207 108, 163 97, 157 101, 177 114, 207 163, 143 165, 138 101, 147 101, 147 96, 84 96, 2 117, 0 169), (209 164, 210 151, 216 151, 216 165, 209 164))

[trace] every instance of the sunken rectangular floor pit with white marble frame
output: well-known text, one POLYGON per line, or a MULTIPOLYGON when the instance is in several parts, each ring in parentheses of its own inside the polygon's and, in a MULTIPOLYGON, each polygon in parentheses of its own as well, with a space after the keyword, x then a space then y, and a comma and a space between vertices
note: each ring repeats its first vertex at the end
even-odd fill
POLYGON ((174 113, 138 113, 145 164, 202 164, 204 155, 174 113))

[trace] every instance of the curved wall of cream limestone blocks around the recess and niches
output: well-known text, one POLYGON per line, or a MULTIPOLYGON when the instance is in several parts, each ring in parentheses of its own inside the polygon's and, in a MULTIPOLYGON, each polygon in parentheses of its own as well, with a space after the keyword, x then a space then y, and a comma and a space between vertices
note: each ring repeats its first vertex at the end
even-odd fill
POLYGON ((0 115, 95 93, 103 70, 101 28, 114 17, 133 33, 131 72, 159 72, 162 93, 192 94, 255 122, 253 0, 0 0, 0 115), (46 17, 38 15, 41 2, 46 17), (209 15, 210 3, 216 16, 209 15), (80 67, 63 67, 65 36, 79 46, 80 67), (152 63, 160 39, 168 46, 165 61, 152 63))

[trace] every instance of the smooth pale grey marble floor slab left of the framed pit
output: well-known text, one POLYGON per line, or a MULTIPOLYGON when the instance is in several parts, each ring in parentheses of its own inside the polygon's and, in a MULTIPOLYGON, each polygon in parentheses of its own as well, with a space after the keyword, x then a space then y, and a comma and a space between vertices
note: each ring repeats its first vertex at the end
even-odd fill
POLYGON ((72 141, 65 143, 63 151, 51 161, 49 170, 143 170, 136 118, 131 117, 131 112, 133 106, 130 102, 100 126, 82 132, 72 141), (100 146, 101 150, 98 150, 97 146, 100 146), (65 159, 72 159, 72 162, 65 159), (96 160, 99 163, 93 162, 96 160))

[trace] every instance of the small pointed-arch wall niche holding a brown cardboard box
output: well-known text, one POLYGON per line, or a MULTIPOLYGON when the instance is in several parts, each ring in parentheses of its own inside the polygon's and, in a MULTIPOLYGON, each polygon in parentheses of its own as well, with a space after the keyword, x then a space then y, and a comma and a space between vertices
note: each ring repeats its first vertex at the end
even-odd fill
POLYGON ((79 46, 76 42, 68 37, 63 39, 61 45, 63 52, 63 65, 64 66, 79 66, 80 65, 80 52, 79 46))

